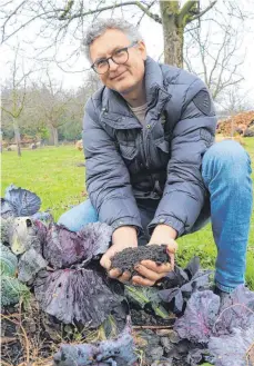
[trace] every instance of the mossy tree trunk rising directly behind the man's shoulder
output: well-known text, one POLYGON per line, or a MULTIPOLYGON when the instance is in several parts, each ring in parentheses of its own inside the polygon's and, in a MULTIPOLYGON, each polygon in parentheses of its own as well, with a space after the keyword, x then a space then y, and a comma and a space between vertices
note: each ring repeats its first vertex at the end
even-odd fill
POLYGON ((162 27, 164 34, 164 62, 183 67, 183 31, 179 22, 179 1, 160 1, 162 27))

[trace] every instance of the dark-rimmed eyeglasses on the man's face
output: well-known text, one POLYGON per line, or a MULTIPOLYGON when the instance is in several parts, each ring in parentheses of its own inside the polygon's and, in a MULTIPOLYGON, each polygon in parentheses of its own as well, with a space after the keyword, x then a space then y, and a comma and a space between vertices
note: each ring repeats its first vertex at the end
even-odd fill
POLYGON ((126 61, 129 60, 129 48, 132 48, 134 46, 136 46, 138 42, 132 42, 130 46, 121 48, 120 50, 116 50, 113 52, 113 55, 111 57, 108 57, 108 59, 100 59, 98 61, 95 61, 91 68, 100 75, 106 73, 110 69, 110 62, 109 60, 112 60, 114 63, 116 65, 123 65, 126 63, 126 61))

